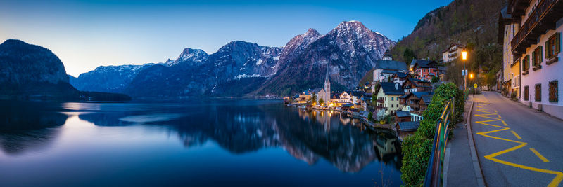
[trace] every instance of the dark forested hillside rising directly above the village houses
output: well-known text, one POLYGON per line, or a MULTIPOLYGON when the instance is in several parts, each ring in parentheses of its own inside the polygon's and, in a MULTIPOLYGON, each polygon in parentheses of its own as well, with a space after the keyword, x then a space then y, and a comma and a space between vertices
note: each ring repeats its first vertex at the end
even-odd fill
POLYGON ((498 14, 505 1, 455 0, 430 11, 419 20, 411 34, 391 50, 393 59, 410 63, 414 57, 440 60, 450 43, 473 48, 469 68, 500 69, 502 46, 498 44, 498 14), (473 68, 472 68, 473 67, 473 68))

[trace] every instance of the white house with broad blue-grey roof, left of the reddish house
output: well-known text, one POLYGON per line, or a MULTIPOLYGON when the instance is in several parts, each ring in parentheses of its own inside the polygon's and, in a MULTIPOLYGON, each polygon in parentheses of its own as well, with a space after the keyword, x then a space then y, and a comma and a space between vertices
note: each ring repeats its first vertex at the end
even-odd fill
MULTIPOLYGON (((407 64, 405 62, 398 62, 393 60, 377 60, 375 62, 372 85, 377 82, 389 82, 391 76, 396 74, 397 71, 408 72, 407 64)), ((375 88, 372 87, 372 92, 375 88)))

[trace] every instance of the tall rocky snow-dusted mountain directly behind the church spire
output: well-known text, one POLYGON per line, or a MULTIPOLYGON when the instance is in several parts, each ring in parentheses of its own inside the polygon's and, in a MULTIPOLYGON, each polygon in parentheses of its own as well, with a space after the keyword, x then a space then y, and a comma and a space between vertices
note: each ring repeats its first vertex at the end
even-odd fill
POLYGON ((394 41, 367 29, 361 22, 342 22, 303 51, 294 53, 297 57, 288 59, 284 68, 254 93, 290 95, 307 88, 320 88, 327 67, 332 88, 352 88, 394 45, 394 41))

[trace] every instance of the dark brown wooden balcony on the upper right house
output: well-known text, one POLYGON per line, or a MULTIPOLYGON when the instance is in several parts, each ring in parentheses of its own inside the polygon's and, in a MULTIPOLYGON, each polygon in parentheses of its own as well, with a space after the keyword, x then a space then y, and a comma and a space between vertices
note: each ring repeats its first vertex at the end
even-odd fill
MULTIPOLYGON (((526 48, 538 43, 537 39, 539 36, 545 34, 548 30, 555 29, 555 22, 557 22, 559 18, 563 17, 562 2, 563 0, 540 0, 536 10, 530 14, 526 22, 521 25, 519 32, 514 36, 514 39, 510 41, 512 54, 514 54, 515 57, 526 53, 526 48)), ((521 1, 513 0, 511 4, 516 4, 514 6, 520 7, 519 5, 521 4, 521 1)), ((524 9, 525 8, 526 7, 524 7, 524 9)), ((517 12, 519 13, 521 8, 512 7, 512 11, 515 9, 517 9, 517 12)), ((512 16, 514 18, 519 18, 519 16, 515 15, 514 12, 512 16)))

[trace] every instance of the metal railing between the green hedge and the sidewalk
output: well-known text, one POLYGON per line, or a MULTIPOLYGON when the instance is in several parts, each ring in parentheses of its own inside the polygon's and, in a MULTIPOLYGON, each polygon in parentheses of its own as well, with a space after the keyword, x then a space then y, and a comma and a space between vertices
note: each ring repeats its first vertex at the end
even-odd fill
POLYGON ((451 118, 454 116, 454 101, 453 97, 448 100, 442 115, 436 121, 434 144, 432 144, 430 161, 428 169, 426 169, 426 176, 424 177, 424 186, 443 186, 445 146, 448 144, 448 134, 450 133, 448 125, 450 125, 451 118))

